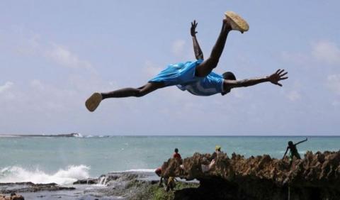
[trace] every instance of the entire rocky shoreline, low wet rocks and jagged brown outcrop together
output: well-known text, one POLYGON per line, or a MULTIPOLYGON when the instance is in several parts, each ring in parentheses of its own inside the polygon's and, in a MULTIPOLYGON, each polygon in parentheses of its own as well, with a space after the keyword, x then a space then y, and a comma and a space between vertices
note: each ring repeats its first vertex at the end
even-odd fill
POLYGON ((0 194, 26 199, 340 199, 340 151, 307 152, 302 160, 283 160, 269 155, 245 158, 217 156, 203 172, 210 154, 195 153, 180 162, 162 165, 163 177, 179 177, 174 191, 159 187, 154 172, 114 172, 96 179, 82 179, 69 186, 57 184, 0 184, 0 194), (188 182, 195 179, 194 182, 188 182), (185 181, 186 180, 186 181, 185 181))

